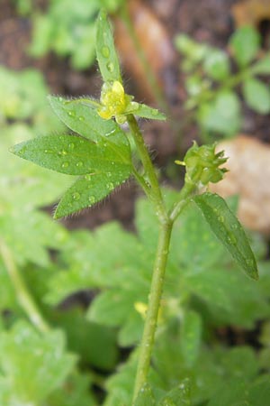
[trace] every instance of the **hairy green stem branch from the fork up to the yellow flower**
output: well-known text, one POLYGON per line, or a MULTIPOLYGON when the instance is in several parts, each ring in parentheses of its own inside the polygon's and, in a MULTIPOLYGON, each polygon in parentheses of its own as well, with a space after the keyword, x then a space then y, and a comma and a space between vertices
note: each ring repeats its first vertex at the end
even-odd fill
POLYGON ((157 208, 157 217, 161 221, 166 221, 167 219, 166 208, 159 188, 157 174, 153 166, 153 163, 149 157, 147 146, 144 142, 143 136, 140 133, 139 125, 134 115, 128 115, 128 123, 130 125, 130 132, 133 136, 134 142, 136 143, 139 152, 139 158, 143 164, 144 170, 146 172, 150 184, 150 189, 148 189, 148 197, 151 199, 151 201, 157 208))

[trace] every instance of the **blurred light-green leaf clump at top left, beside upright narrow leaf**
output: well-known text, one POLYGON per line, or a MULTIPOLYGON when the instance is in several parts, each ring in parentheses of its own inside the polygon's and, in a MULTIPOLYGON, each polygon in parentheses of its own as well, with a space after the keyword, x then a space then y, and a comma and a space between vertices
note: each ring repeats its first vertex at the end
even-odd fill
POLYGON ((19 14, 32 23, 30 54, 49 51, 70 57, 74 69, 87 69, 95 60, 95 19, 100 9, 115 13, 126 0, 49 0, 42 12, 31 0, 17 0, 19 14))

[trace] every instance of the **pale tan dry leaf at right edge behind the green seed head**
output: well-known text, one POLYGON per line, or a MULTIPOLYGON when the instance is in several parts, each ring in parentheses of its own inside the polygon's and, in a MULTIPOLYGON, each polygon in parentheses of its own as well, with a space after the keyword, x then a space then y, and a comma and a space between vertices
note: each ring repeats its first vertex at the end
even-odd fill
POLYGON ((218 151, 229 157, 223 180, 211 184, 211 191, 223 198, 239 195, 238 217, 247 228, 270 233, 270 146, 239 135, 219 143, 218 151))

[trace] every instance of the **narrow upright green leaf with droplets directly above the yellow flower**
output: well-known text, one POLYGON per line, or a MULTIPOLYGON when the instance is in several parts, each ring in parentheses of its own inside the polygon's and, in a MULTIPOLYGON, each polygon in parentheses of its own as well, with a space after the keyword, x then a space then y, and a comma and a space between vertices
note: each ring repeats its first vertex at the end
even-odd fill
POLYGON ((103 11, 99 14, 97 19, 95 48, 103 81, 121 82, 121 70, 114 47, 112 29, 103 11))

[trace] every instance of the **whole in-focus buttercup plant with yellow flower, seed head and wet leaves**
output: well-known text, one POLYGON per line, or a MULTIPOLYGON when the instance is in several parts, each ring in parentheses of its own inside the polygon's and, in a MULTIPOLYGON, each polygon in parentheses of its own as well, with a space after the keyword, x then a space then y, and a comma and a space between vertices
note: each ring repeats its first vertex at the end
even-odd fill
MULTIPOLYGON (((96 54, 104 82, 100 101, 91 98, 68 100, 64 97, 49 97, 55 113, 76 135, 41 136, 15 145, 12 152, 49 170, 77 177, 60 199, 55 218, 90 208, 130 176, 147 195, 156 213, 159 231, 144 331, 139 345, 132 405, 157 404, 155 401, 149 402, 152 394, 148 388, 148 372, 155 344, 171 232, 177 217, 193 202, 220 243, 253 279, 257 279, 257 263, 247 236, 226 202, 216 194, 200 193, 209 182, 221 180, 226 171, 222 168, 226 158, 222 152, 214 151, 214 145, 199 147, 194 143, 184 156, 184 161, 179 161, 184 164, 186 171, 184 187, 172 207, 166 207, 164 193, 136 116, 157 120, 166 117, 157 109, 134 102, 133 97, 125 93, 112 30, 103 12, 97 21, 96 54), (124 123, 128 124, 130 137, 136 145, 139 165, 135 165, 132 160, 129 138, 120 126, 124 123)), ((139 307, 140 304, 137 305, 139 307)), ((165 397, 158 404, 176 403, 172 402, 171 397, 165 397)))

